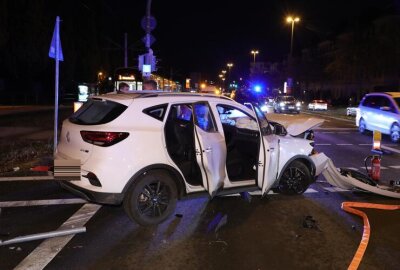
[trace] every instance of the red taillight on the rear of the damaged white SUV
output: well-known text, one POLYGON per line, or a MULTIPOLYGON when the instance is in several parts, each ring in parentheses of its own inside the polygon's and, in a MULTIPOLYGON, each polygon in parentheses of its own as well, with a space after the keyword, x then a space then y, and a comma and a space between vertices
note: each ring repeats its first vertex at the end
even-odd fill
POLYGON ((129 133, 82 130, 81 136, 85 142, 98 146, 110 146, 126 139, 129 133))

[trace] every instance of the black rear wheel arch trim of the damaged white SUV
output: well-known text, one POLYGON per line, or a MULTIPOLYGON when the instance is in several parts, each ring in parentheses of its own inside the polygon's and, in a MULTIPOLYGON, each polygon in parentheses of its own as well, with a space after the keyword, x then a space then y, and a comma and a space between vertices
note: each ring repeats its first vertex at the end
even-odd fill
POLYGON ((125 187, 122 190, 123 197, 125 198, 126 192, 128 189, 134 184, 134 182, 139 179, 140 177, 144 176, 145 174, 151 171, 163 171, 168 173, 171 178, 174 180, 176 184, 176 188, 178 191, 178 199, 182 198, 185 195, 185 182, 182 175, 179 173, 177 169, 174 167, 167 165, 167 164, 152 164, 140 169, 136 172, 126 183, 125 187))

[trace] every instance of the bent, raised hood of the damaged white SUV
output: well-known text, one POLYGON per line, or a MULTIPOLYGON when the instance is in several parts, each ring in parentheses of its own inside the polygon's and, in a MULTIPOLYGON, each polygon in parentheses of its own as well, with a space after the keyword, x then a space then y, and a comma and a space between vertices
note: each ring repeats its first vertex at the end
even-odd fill
POLYGON ((273 117, 268 117, 268 119, 272 118, 272 121, 283 125, 287 132, 292 136, 298 136, 307 130, 320 126, 324 122, 324 119, 315 117, 292 119, 292 117, 279 117, 276 114, 273 115, 273 117))

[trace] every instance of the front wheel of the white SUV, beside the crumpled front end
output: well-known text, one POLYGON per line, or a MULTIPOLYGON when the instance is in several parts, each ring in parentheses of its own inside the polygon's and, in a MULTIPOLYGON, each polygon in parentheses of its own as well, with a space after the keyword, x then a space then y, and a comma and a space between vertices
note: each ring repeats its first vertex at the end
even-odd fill
POLYGON ((289 164, 279 180, 278 192, 285 195, 303 194, 312 182, 310 169, 301 161, 289 164))

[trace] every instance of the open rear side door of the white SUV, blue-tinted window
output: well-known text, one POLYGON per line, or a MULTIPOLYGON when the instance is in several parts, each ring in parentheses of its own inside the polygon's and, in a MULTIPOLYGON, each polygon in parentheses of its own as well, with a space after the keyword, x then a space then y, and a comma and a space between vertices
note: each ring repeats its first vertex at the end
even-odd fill
POLYGON ((226 145, 218 132, 215 118, 207 102, 193 104, 196 161, 203 185, 211 197, 222 187, 226 178, 226 145))

